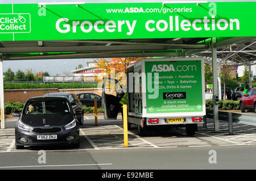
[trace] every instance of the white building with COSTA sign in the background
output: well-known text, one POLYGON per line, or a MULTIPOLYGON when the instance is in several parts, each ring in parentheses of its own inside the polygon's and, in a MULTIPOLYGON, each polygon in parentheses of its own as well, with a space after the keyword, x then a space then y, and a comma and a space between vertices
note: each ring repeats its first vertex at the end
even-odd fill
POLYGON ((74 76, 82 76, 84 77, 84 82, 96 82, 95 78, 98 77, 102 71, 102 69, 98 69, 95 62, 86 62, 87 67, 72 70, 74 76))

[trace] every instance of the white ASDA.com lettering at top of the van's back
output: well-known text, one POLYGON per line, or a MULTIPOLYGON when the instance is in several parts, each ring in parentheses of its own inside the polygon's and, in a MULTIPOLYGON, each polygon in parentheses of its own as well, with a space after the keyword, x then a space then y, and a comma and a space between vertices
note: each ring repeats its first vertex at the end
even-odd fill
POLYGON ((177 65, 176 68, 174 68, 172 64, 158 64, 152 66, 151 72, 154 71, 196 71, 196 65, 177 65))

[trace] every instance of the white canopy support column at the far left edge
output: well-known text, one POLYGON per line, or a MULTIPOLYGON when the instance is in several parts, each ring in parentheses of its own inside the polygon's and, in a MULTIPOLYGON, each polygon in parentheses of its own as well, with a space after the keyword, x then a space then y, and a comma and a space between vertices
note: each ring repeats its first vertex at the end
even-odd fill
POLYGON ((5 129, 5 104, 3 102, 3 60, 0 60, 0 106, 1 106, 1 129, 5 129))

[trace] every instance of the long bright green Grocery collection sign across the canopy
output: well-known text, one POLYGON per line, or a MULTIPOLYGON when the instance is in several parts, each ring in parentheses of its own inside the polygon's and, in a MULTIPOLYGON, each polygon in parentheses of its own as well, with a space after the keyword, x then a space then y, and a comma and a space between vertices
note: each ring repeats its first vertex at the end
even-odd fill
POLYGON ((0 40, 255 36, 256 2, 0 5, 0 40))

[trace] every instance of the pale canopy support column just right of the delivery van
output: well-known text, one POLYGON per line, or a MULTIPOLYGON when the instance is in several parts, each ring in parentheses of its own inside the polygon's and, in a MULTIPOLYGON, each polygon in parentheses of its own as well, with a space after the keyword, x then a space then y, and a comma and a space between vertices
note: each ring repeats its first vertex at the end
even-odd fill
MULTIPOLYGON (((218 131, 218 104, 216 104, 216 98, 218 98, 218 66, 217 66, 217 48, 213 45, 216 43, 216 37, 212 37, 212 74, 213 74, 213 119, 214 119, 214 131, 218 131)), ((220 98, 221 99, 221 98, 220 98)), ((218 101, 218 100, 217 100, 218 101)))

